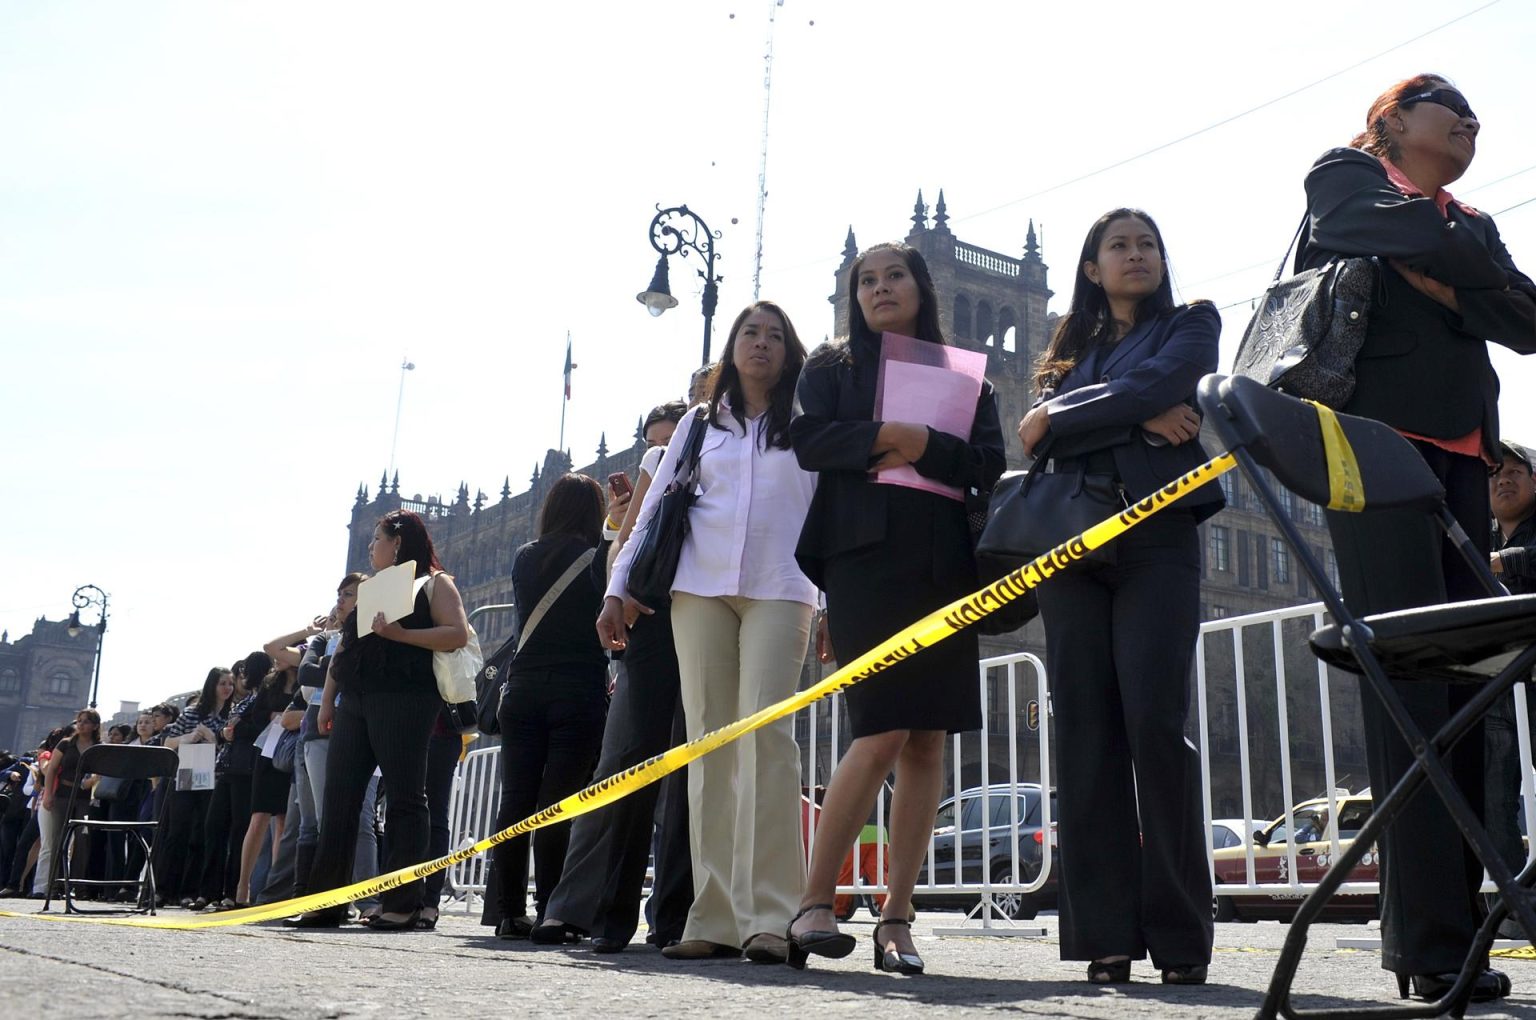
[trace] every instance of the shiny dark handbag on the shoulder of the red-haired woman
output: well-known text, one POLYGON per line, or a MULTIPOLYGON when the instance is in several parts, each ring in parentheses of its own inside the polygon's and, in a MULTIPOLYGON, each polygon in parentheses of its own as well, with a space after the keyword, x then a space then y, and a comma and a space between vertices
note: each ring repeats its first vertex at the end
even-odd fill
POLYGON ((1366 343, 1370 303, 1382 286, 1381 263, 1336 258, 1283 281, 1290 250, 1306 229, 1304 215, 1243 333, 1232 373, 1336 409, 1355 392, 1355 359, 1366 343))

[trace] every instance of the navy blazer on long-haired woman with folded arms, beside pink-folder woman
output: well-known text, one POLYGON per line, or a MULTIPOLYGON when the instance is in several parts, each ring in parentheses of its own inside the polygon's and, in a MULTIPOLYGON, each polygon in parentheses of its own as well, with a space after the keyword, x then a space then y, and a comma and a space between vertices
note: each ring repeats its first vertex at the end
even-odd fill
MULTIPOLYGON (((1101 364, 1084 356, 1044 399, 1051 409, 1046 433, 1054 450, 1074 447, 1075 439, 1127 436, 1109 445, 1115 472, 1132 499, 1141 499, 1180 475, 1206 462, 1200 441, 1169 445, 1140 424, 1181 401, 1190 402, 1200 378, 1217 370, 1221 316, 1209 301, 1180 306, 1121 338, 1101 364)), ((1180 504, 1204 521, 1224 505, 1221 488, 1203 485, 1180 504)))

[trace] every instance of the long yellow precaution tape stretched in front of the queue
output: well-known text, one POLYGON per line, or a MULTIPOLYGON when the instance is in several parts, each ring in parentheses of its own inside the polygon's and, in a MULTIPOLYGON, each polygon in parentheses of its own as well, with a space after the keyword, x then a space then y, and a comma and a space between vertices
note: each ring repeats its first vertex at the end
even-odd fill
POLYGON ((355 882, 338 889, 310 892, 309 896, 283 900, 281 903, 266 903, 261 906, 247 906, 243 909, 186 919, 81 917, 80 914, 17 914, 12 911, 0 911, 0 917, 28 917, 34 920, 60 920, 86 925, 121 925, 127 928, 172 928, 178 931, 190 931, 197 928, 229 928, 233 925, 276 920, 278 917, 287 917, 304 911, 343 906, 352 900, 375 896, 386 889, 416 882, 418 879, 424 879, 435 871, 442 871, 444 868, 450 868, 461 860, 468 860, 476 854, 482 854, 510 839, 525 836, 533 830, 544 828, 545 825, 553 825, 556 822, 565 822, 578 814, 587 814, 588 811, 594 811, 601 806, 613 803, 614 800, 621 800, 636 790, 641 790, 642 787, 677 771, 690 762, 703 757, 710 751, 731 743, 737 737, 742 737, 754 730, 760 730, 771 722, 783 719, 785 716, 791 716, 806 705, 822 700, 828 694, 834 694, 840 690, 852 687, 854 684, 869 679, 876 673, 917 654, 923 648, 960 633, 988 613, 995 613, 1029 588, 1041 584, 1046 578, 1051 578, 1057 571, 1064 570, 1074 562, 1083 559, 1087 553, 1104 545, 1106 542, 1120 538, 1158 510, 1167 507, 1195 488, 1200 488, 1210 479, 1224 475, 1233 467, 1236 467, 1236 461, 1232 455, 1223 453, 1221 456, 1201 464, 1183 478, 1169 482, 1146 499, 1126 507, 1115 516, 1100 521, 1081 535, 1061 542, 1034 562, 1025 564, 1023 567, 1005 575, 980 591, 972 591, 963 599, 957 599, 940 610, 934 610, 911 627, 902 630, 892 638, 888 638, 872 650, 842 667, 820 684, 808 687, 797 694, 791 694, 776 705, 768 705, 745 719, 739 719, 727 727, 705 733, 688 743, 682 743, 670 751, 648 757, 639 765, 631 765, 622 773, 614 773, 607 779, 601 779, 585 790, 573 793, 558 803, 551 803, 538 814, 533 814, 510 828, 504 828, 499 833, 493 833, 473 846, 458 849, 447 857, 438 857, 436 860, 429 860, 412 868, 401 868, 399 871, 392 871, 364 882, 355 882))

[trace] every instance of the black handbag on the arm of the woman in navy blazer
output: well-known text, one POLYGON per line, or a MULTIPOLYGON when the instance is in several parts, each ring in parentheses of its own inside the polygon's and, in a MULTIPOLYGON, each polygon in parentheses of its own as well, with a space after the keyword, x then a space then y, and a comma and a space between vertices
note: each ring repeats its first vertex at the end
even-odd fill
MULTIPOLYGON (((1126 508, 1112 475, 1089 473, 1086 461, 1078 470, 1046 470, 1049 453, 1049 447, 1041 449, 1028 472, 997 479, 986 528, 975 545, 978 558, 992 558, 1014 570, 1126 508)), ((1087 561, 1114 564, 1114 545, 1089 551, 1087 561)))

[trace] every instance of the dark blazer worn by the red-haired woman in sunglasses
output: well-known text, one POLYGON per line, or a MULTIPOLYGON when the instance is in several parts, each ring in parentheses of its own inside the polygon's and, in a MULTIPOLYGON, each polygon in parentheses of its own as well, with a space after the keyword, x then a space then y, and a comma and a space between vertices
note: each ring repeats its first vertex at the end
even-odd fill
POLYGON ((1332 149, 1307 172, 1306 243, 1296 267, 1339 255, 1382 260, 1382 287, 1341 409, 1422 436, 1455 439, 1482 427, 1498 461, 1499 376, 1485 341, 1536 352, 1536 284, 1514 267, 1499 229, 1452 203, 1409 198, 1381 160, 1332 149), (1456 289, 1459 312, 1419 293, 1389 258, 1456 289))

